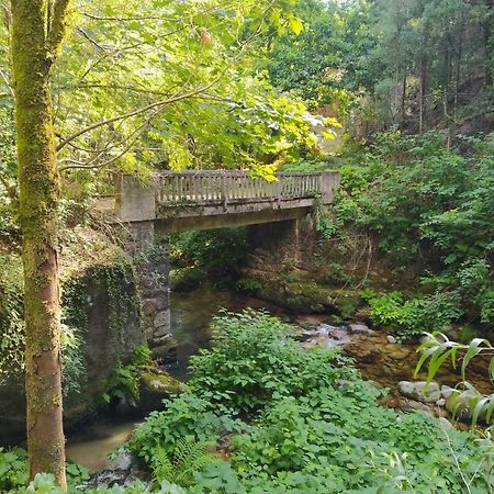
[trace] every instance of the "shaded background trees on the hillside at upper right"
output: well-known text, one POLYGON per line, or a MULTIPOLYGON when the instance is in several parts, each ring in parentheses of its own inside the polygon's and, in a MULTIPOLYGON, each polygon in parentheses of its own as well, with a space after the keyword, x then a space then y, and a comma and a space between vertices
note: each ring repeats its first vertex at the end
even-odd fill
POLYGON ((315 109, 351 109, 353 135, 492 124, 492 0, 311 0, 296 12, 304 31, 273 41, 270 78, 315 109))

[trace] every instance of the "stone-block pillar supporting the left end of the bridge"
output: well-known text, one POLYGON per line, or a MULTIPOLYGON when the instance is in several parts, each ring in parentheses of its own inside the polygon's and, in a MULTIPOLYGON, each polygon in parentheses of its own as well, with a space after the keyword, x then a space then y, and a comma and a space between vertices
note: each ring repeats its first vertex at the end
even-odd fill
POLYGON ((171 338, 170 247, 167 237, 155 238, 154 222, 134 222, 128 228, 128 251, 138 271, 146 338, 150 347, 158 347, 171 338))

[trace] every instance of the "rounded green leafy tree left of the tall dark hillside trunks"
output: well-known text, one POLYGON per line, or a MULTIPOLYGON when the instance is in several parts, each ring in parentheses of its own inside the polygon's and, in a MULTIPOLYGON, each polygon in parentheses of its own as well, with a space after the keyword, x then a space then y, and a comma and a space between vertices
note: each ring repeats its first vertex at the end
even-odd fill
POLYGON ((369 8, 362 1, 339 4, 322 0, 299 2, 304 29, 287 32, 272 43, 263 61, 272 83, 301 97, 311 108, 349 103, 349 92, 367 86, 361 59, 373 46, 369 8))

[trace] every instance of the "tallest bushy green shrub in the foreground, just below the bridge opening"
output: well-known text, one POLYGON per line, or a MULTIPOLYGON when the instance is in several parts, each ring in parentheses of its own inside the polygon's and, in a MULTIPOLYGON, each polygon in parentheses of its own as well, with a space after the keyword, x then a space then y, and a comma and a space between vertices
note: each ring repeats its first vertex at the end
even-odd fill
POLYGON ((332 366, 338 361, 335 351, 307 353, 294 341, 289 325, 265 312, 215 317, 212 335, 213 348, 191 359, 189 385, 237 413, 252 414, 273 396, 297 396, 351 375, 350 370, 332 366))

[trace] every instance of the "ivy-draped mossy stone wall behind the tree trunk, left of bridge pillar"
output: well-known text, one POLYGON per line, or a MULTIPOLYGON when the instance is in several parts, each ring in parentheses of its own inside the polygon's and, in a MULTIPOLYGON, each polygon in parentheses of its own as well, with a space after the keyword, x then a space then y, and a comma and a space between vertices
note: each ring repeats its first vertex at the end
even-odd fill
MULTIPOLYGON (((93 232, 67 233, 64 244, 63 322, 69 338, 64 352, 64 420, 69 428, 96 413, 114 364, 144 344, 144 329, 132 260, 93 232)), ((22 283, 19 291, 22 297, 22 283)), ((23 314, 18 316, 22 321, 23 314)), ((3 315, 0 336, 3 340, 9 334, 19 347, 9 352, 11 362, 0 357, 0 367, 9 371, 0 375, 0 436, 7 441, 25 434, 25 392, 19 358, 24 328, 20 324, 11 335, 5 321, 3 315)))

